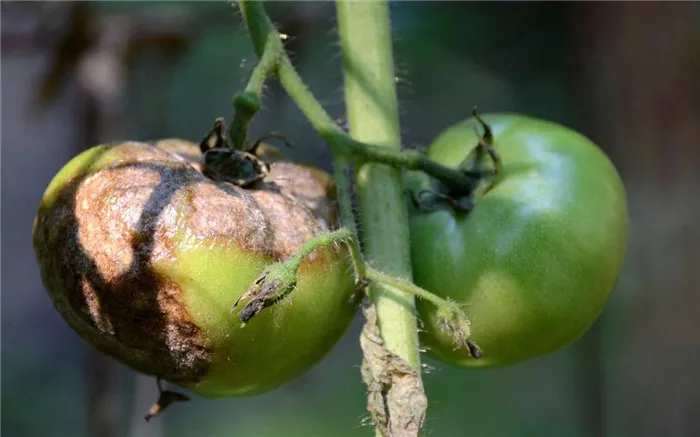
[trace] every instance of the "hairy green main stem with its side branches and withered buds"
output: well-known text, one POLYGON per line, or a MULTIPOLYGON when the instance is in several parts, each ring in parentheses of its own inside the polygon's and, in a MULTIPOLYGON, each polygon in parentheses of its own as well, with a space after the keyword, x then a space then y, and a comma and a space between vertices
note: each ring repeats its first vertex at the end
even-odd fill
MULTIPOLYGON (((251 301, 241 312, 241 320, 248 320, 290 293, 296 284, 296 269, 306 255, 318 247, 344 241, 350 249, 356 278, 372 283, 370 297, 381 336, 379 343, 373 344, 384 348, 393 360, 391 365, 388 361, 370 362, 368 368, 378 373, 365 373, 363 365, 363 379, 369 391, 368 409, 377 434, 383 433, 385 437, 390 437, 389 434, 418 435, 427 400, 420 380, 414 296, 438 306, 445 326, 454 333, 458 345, 467 346, 470 351, 478 350, 470 343, 469 323, 461 308, 410 282, 408 217, 401 168, 423 171, 452 190, 465 193, 472 189, 472 176, 431 161, 420 152, 401 151, 387 0, 337 2, 351 136, 328 115, 294 69, 262 1, 237 2, 260 62, 246 91, 234 100, 237 115, 232 123, 232 142, 239 147, 245 141, 247 125, 259 108, 266 74, 276 75, 331 148, 345 226, 307 242, 292 258, 268 268, 246 293, 246 299, 251 301), (253 104, 248 105, 250 102, 253 104), (364 248, 371 267, 363 259, 357 241, 350 191, 351 164, 357 169, 364 248), (396 373, 395 369, 400 368, 405 369, 396 373), (395 381, 401 382, 394 384, 395 381)), ((374 322, 371 325, 374 327, 374 322)), ((365 354, 367 359, 367 352, 365 354)), ((378 356, 384 356, 382 354, 378 356)))

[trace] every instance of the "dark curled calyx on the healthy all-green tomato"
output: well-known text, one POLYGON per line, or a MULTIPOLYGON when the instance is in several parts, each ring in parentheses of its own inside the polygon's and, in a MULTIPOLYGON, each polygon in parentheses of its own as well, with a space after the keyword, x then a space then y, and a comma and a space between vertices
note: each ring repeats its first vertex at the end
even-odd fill
POLYGON ((488 193, 498 182, 502 172, 501 158, 493 147, 493 131, 479 116, 476 108, 472 111, 474 118, 481 124, 484 133, 475 129, 477 144, 458 168, 473 183, 466 190, 450 188, 438 180, 432 180, 430 188, 411 191, 411 201, 418 211, 433 212, 443 209, 445 205, 454 212, 469 213, 479 198, 488 193))

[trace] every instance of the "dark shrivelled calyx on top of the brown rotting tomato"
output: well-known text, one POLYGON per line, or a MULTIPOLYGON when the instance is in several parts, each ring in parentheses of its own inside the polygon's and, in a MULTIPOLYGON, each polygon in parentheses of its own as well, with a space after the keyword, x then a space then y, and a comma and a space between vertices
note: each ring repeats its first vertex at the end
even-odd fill
POLYGON ((208 178, 218 182, 228 182, 241 188, 247 188, 260 182, 270 173, 270 164, 261 158, 275 157, 274 148, 263 143, 268 138, 284 141, 288 147, 292 144, 277 132, 253 142, 247 150, 233 147, 230 136, 226 132, 223 118, 214 121, 214 127, 199 143, 199 149, 204 155, 203 173, 208 178))

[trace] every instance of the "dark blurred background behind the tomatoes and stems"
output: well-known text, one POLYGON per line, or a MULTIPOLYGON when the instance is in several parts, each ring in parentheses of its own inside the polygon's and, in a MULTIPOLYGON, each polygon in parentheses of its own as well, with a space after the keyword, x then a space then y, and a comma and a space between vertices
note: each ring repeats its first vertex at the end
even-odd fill
MULTIPOLYGON (((342 123, 333 2, 267 5, 342 123)), ((617 290, 576 344, 489 371, 425 358, 425 435, 699 436, 700 2, 391 6, 406 145, 429 143, 474 105, 551 119, 606 151, 631 214, 617 290)), ((154 381, 87 348, 39 280, 31 225, 53 174, 99 141, 200 139, 215 117, 230 119, 254 62, 224 0, 0 1, 0 436, 373 435, 360 320, 327 359, 273 393, 193 399, 147 424, 154 381)), ((296 143, 290 156, 329 167, 274 83, 252 133, 271 130, 296 143)))

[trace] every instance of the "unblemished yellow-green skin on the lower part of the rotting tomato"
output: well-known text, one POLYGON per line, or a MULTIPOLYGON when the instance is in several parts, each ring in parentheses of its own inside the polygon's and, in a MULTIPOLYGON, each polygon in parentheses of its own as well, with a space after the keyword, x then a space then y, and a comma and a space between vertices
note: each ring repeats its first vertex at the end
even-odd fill
POLYGON ((207 375, 181 385, 206 397, 256 395, 307 372, 342 337, 358 308, 351 266, 339 255, 302 264, 290 297, 245 326, 231 311, 231 299, 271 260, 237 247, 204 246, 164 262, 162 272, 186 290, 188 312, 215 351, 207 375))

